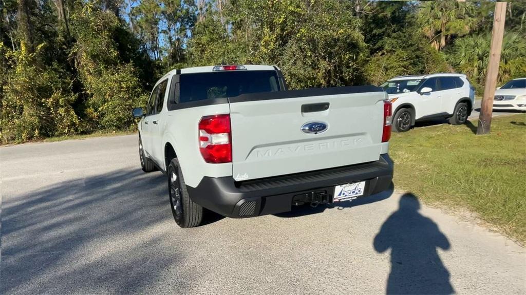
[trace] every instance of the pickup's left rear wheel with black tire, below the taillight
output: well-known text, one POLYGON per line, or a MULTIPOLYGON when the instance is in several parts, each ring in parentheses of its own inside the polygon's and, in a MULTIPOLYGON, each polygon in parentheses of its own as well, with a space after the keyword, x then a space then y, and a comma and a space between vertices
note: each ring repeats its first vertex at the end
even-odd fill
POLYGON ((196 227, 203 220, 203 207, 194 203, 186 190, 185 178, 177 158, 168 166, 168 196, 175 223, 182 228, 196 227))

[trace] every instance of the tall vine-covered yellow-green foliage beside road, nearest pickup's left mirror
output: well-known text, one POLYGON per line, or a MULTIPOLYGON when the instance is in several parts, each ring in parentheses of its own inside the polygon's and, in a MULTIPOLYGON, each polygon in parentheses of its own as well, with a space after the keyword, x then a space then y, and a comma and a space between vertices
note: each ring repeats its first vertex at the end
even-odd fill
POLYGON ((145 92, 133 63, 120 59, 115 42, 119 20, 90 5, 72 18, 77 36, 73 55, 87 94, 85 129, 93 132, 134 128, 131 109, 144 106, 141 99, 144 100, 145 92))

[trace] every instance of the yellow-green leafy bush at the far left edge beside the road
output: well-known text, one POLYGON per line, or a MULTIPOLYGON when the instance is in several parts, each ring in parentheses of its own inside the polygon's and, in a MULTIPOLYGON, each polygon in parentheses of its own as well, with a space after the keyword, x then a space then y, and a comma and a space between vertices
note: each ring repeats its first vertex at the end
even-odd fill
POLYGON ((46 44, 29 52, 25 46, 11 51, 3 48, 12 69, 7 72, 0 125, 2 142, 23 142, 77 132, 78 117, 72 108, 67 75, 42 64, 46 44))

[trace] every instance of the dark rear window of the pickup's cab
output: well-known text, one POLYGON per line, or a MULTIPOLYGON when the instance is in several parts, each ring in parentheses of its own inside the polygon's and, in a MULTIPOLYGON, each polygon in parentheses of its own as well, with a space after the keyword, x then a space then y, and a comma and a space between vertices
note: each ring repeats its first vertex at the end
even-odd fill
POLYGON ((179 81, 179 102, 280 90, 278 76, 272 70, 187 73, 182 74, 179 81))

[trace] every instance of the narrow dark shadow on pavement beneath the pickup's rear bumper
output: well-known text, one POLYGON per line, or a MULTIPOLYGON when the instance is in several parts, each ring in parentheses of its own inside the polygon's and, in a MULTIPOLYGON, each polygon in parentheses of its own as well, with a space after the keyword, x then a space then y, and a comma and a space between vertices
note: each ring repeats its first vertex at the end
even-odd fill
POLYGON ((395 189, 395 186, 393 185, 393 183, 391 183, 391 185, 386 191, 383 191, 381 193, 374 194, 371 196, 358 197, 356 199, 353 199, 352 201, 344 201, 341 203, 318 205, 316 207, 311 207, 309 204, 301 205, 301 206, 292 206, 292 210, 290 212, 278 213, 274 215, 278 217, 290 218, 290 217, 318 214, 318 213, 324 212, 327 209, 340 209, 341 210, 341 209, 357 207, 361 205, 367 205, 367 204, 371 204, 375 202, 380 202, 380 201, 383 201, 389 198, 392 195, 394 189, 395 189))

